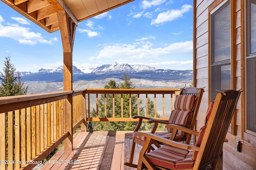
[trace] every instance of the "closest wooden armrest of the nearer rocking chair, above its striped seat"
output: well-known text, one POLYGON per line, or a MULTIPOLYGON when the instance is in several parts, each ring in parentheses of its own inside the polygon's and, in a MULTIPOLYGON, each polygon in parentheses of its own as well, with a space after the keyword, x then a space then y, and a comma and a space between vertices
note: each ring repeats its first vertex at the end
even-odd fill
POLYGON ((188 145, 188 144, 185 144, 185 143, 172 141, 170 139, 166 139, 166 138, 161 137, 159 135, 148 133, 148 132, 140 132, 140 133, 138 133, 138 136, 145 136, 146 137, 145 145, 143 146, 143 148, 144 147, 148 148, 151 145, 151 143, 152 143, 152 142, 150 142, 151 139, 153 139, 155 141, 159 141, 161 143, 165 143, 167 145, 171 145, 171 146, 174 146, 174 147, 187 149, 187 150, 196 150, 196 151, 198 151, 199 148, 200 148, 200 147, 196 147, 196 146, 193 146, 193 145, 188 145))

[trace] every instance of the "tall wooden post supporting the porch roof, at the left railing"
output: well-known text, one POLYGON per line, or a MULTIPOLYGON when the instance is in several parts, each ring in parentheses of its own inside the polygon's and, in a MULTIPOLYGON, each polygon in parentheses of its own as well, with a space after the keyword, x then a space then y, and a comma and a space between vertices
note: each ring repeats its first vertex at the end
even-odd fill
MULTIPOLYGON (((63 47, 63 84, 64 91, 72 91, 72 53, 74 37, 76 32, 76 23, 67 15, 64 10, 57 11, 60 35, 63 47)), ((72 95, 69 95, 65 101, 65 129, 68 137, 64 141, 66 151, 73 150, 73 117, 72 117, 72 95)))

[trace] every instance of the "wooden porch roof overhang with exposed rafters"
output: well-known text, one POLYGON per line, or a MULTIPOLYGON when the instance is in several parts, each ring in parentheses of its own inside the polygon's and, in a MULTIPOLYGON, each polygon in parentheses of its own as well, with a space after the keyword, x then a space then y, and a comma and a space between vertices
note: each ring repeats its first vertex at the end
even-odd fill
POLYGON ((57 11, 64 10, 76 25, 134 0, 1 0, 46 31, 59 30, 57 11))

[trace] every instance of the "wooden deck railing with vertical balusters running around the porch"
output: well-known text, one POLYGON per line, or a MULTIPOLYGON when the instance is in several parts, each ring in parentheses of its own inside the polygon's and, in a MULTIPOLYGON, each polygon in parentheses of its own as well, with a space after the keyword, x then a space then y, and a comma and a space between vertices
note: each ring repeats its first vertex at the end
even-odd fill
MULTIPOLYGON (((86 121, 136 121, 132 119, 132 96, 137 96, 138 115, 141 104, 147 108, 147 101, 154 98, 154 117, 156 117, 157 97, 162 101, 162 116, 166 117, 166 106, 172 110, 174 96, 178 89, 87 89, 62 91, 46 94, 31 94, 0 98, 0 169, 32 169, 64 140, 70 140, 72 132, 81 125, 86 131, 86 121), (98 97, 112 96, 112 117, 99 117, 98 97), (120 96, 121 116, 116 117, 115 96, 120 96), (124 96, 129 96, 129 116, 123 116, 124 96), (142 98, 142 96, 145 98, 142 98), (95 98, 94 98, 95 96, 95 98), (166 104, 166 96, 170 103, 166 104), (87 100, 86 100, 87 99, 87 100), (71 100, 71 104, 70 104, 71 100), (86 109, 87 106, 87 109, 86 109), (96 109, 92 117, 91 110, 96 109), (70 110, 69 110, 70 109, 70 110), (69 117, 69 113, 72 113, 69 117), (72 121, 70 121, 72 120, 72 121), (71 128, 70 128, 71 125, 71 128), (72 129, 70 131, 69 129, 72 129)), ((119 99, 119 98, 118 98, 119 99)), ((146 115, 147 109, 146 109, 146 115)), ((72 140, 71 140, 72 141, 72 140)), ((65 143, 66 145, 66 143, 65 143)), ((69 146, 70 147, 70 146, 69 146)), ((72 145, 71 145, 72 147, 72 145)), ((65 147, 66 149, 66 147, 65 147)), ((71 148, 72 150, 72 148, 71 148)))

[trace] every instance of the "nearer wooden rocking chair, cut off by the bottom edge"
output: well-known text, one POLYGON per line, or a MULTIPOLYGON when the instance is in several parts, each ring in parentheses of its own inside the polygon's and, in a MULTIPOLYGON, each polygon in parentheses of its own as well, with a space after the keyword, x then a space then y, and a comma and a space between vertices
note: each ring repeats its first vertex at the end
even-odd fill
POLYGON ((152 133, 139 133, 138 136, 145 136, 146 141, 140 151, 137 169, 214 169, 240 92, 241 90, 227 90, 224 93, 218 93, 215 101, 209 103, 205 125, 199 132, 179 125, 166 125, 175 129, 171 139, 174 138, 177 130, 182 130, 198 136, 196 145, 178 143, 152 133), (153 141, 160 141, 165 145, 147 153, 153 141))

